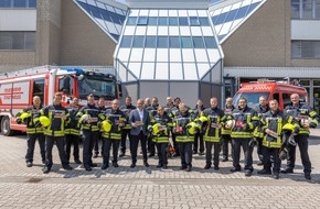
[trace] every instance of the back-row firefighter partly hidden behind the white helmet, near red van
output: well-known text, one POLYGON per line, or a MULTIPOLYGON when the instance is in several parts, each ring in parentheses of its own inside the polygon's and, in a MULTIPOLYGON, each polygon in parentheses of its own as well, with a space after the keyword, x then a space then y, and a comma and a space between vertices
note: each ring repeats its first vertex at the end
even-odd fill
MULTIPOLYGON (((232 111, 235 107, 232 105, 232 98, 228 97, 225 100, 224 114, 228 118, 232 114, 232 111)), ((222 162, 228 161, 228 143, 231 143, 231 156, 233 157, 233 148, 231 141, 231 130, 225 129, 224 127, 221 129, 221 141, 222 141, 222 162)))

